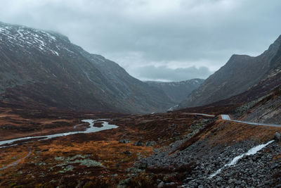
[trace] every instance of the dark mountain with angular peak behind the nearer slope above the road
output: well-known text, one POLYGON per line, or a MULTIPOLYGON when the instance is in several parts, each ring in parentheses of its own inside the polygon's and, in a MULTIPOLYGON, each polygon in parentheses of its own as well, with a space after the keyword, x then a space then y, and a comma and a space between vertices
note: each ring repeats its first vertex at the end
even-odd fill
POLYGON ((266 80, 280 65, 281 36, 256 57, 233 55, 230 60, 195 89, 180 108, 204 106, 241 94, 266 80))

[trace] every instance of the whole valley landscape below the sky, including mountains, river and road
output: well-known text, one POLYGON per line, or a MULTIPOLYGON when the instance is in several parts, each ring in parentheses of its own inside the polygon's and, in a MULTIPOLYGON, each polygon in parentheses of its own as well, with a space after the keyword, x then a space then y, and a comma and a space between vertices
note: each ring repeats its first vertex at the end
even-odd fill
POLYGON ((281 36, 206 80, 143 82, 0 22, 0 187, 281 187, 280 70, 281 36))

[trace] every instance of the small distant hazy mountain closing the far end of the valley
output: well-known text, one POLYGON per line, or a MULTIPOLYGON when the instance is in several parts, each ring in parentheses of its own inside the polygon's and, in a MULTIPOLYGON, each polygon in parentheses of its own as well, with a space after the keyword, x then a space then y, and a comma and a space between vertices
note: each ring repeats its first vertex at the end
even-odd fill
POLYGON ((188 95, 194 90, 200 87, 204 80, 192 79, 181 82, 153 82, 148 81, 150 86, 162 89, 164 93, 169 96, 171 101, 175 104, 179 104, 181 101, 186 99, 188 95))

